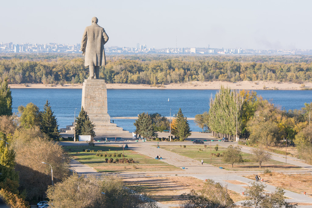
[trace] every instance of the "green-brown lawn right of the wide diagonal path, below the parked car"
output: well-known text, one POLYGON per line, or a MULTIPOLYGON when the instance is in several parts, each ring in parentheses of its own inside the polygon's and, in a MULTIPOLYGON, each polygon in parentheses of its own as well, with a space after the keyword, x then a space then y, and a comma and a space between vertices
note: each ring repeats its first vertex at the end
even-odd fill
MULTIPOLYGON (((211 147, 211 153, 217 154, 224 152, 226 148, 218 146, 218 151, 216 151, 214 148, 216 146, 211 147)), ((175 152, 179 155, 186 156, 193 158, 195 160, 201 161, 204 160, 204 163, 210 164, 210 157, 211 157, 211 164, 216 167, 224 167, 227 170, 264 170, 265 168, 270 168, 272 170, 292 170, 292 169, 301 169, 301 167, 289 165, 284 162, 279 162, 275 160, 270 160, 268 162, 262 163, 262 168, 259 168, 258 163, 251 162, 251 154, 241 152, 242 157, 244 159, 244 164, 226 164, 222 162, 222 157, 212 156, 210 154, 210 145, 207 145, 207 148, 204 147, 204 145, 186 145, 186 148, 183 148, 183 145, 180 147, 179 145, 162 145, 160 148, 163 148, 165 150, 175 152), (202 151, 200 151, 201 149, 202 151)))

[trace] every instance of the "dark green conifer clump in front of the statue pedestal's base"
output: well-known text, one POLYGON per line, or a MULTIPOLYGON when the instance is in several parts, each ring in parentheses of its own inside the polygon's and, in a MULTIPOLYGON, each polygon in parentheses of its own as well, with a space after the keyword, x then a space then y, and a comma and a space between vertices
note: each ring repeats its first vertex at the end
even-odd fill
POLYGON ((76 117, 76 138, 79 135, 91 135, 91 138, 95 137, 94 127, 95 125, 90 121, 87 112, 81 107, 80 113, 76 117))

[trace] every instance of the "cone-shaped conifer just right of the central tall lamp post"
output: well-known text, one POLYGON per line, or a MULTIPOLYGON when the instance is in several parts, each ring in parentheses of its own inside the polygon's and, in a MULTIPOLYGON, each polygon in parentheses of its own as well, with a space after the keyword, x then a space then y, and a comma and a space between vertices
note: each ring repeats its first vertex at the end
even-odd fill
POLYGON ((191 130, 188 125, 188 120, 184 117, 181 108, 179 109, 173 123, 173 128, 171 128, 172 134, 179 138, 180 141, 185 141, 185 139, 191 135, 191 130))

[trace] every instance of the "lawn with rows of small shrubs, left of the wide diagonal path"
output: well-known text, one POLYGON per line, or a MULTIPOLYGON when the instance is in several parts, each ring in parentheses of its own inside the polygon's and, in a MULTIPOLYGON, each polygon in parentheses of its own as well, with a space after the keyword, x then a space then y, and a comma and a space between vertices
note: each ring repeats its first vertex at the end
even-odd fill
POLYGON ((66 152, 77 161, 93 167, 99 172, 141 172, 141 171, 181 171, 180 168, 169 165, 161 160, 155 160, 154 158, 146 155, 139 154, 133 150, 129 150, 119 146, 64 146, 66 152), (84 152, 83 149, 94 150, 94 152, 84 152), (102 151, 102 152, 97 152, 102 151), (105 158, 122 159, 123 157, 104 157, 104 154, 120 153, 124 158, 132 158, 134 163, 107 163, 105 158), (96 154, 103 154, 103 157, 97 157, 96 154))

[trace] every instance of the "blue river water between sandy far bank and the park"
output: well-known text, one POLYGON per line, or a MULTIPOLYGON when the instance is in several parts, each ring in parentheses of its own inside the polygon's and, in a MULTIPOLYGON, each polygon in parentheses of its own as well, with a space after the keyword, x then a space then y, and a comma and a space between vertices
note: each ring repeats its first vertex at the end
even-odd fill
MULTIPOLYGON (((17 113, 17 107, 32 102, 40 110, 48 99, 60 128, 65 128, 74 121, 81 109, 81 89, 11 89, 12 111, 17 113)), ((285 110, 301 109, 304 103, 312 102, 310 90, 256 90, 264 99, 271 100, 275 105, 285 110)), ((159 113, 171 116, 181 108, 184 116, 194 118, 209 110, 209 98, 216 90, 187 89, 108 89, 107 104, 110 117, 136 117, 142 112, 159 113), (169 102, 168 102, 169 98, 169 102)), ((130 132, 135 130, 134 119, 114 119, 117 126, 130 132)), ((200 131, 195 123, 189 120, 192 131, 200 131)))

